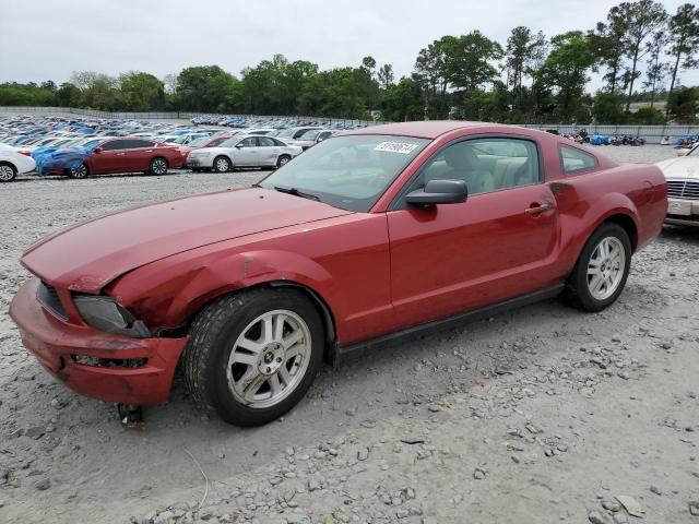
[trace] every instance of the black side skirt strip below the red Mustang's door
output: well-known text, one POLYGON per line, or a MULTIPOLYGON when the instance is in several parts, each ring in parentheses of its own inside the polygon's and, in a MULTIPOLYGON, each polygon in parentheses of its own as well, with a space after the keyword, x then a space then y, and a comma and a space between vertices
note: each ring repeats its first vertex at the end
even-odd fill
POLYGON ((425 324, 414 325, 405 330, 389 333, 377 338, 371 338, 356 344, 347 346, 335 345, 331 350, 331 364, 336 367, 340 360, 347 357, 350 354, 357 354, 369 349, 379 349, 387 346, 392 346, 408 340, 414 340, 418 335, 427 335, 452 327, 458 327, 463 324, 483 320, 495 314, 500 314, 512 309, 518 309, 530 303, 538 302, 549 298, 557 297, 564 290, 565 285, 559 284, 540 291, 534 291, 529 295, 522 295, 521 297, 510 298, 502 302, 497 302, 484 308, 465 311, 458 313, 453 317, 447 317, 446 319, 434 320, 425 324))

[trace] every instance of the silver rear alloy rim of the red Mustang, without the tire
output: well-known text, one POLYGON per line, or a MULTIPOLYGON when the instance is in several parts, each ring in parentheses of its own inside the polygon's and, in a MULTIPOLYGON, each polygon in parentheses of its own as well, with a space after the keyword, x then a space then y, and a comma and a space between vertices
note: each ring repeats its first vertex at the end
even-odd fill
POLYGON ((616 237, 603 238, 588 262, 588 289, 596 300, 606 300, 619 287, 626 267, 624 245, 616 237))

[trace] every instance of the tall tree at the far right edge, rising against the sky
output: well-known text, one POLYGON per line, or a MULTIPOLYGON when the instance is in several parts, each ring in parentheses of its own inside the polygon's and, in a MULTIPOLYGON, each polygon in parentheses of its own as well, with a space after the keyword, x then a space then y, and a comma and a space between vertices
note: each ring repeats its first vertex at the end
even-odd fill
POLYGON ((670 55, 674 58, 670 93, 675 88, 677 72, 680 69, 696 68, 699 64, 699 5, 684 3, 670 17, 667 24, 670 55))

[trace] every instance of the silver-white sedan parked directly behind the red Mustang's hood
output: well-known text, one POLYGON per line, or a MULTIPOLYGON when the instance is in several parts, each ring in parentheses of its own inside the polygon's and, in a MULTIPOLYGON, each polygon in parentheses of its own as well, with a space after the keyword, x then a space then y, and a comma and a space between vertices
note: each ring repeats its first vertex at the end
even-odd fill
POLYGON ((303 150, 264 135, 233 136, 216 147, 202 147, 187 155, 187 167, 194 171, 229 171, 236 167, 282 167, 303 150))

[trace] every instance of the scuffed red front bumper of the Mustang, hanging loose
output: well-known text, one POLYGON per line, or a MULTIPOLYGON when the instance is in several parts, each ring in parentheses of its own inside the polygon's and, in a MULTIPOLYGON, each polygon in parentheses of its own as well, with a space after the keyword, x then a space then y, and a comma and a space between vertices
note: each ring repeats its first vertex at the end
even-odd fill
POLYGON ((105 402, 167 402, 181 338, 130 338, 67 322, 37 299, 38 278, 26 282, 10 306, 22 343, 54 377, 81 395, 105 402))

